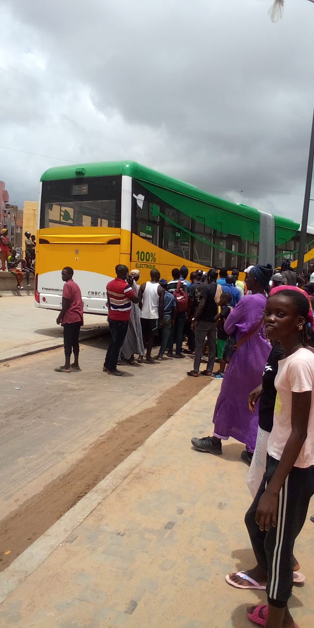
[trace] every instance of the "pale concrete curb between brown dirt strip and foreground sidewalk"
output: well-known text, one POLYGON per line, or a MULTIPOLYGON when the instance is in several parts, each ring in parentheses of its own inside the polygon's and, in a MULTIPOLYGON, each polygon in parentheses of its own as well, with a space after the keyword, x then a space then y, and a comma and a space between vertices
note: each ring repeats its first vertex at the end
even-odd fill
MULTIPOLYGON (((210 393, 217 393, 220 389, 219 382, 212 380, 210 393)), ((208 386, 205 386, 207 388, 208 386)), ((200 393, 203 394, 203 390, 200 393)), ((198 394, 200 394, 198 393, 198 394)), ((192 398, 193 399, 193 398, 192 398)), ((9 593, 12 593, 33 571, 36 570, 51 553, 67 539, 73 530, 86 519, 99 504, 107 499, 109 495, 139 466, 148 454, 151 447, 156 447, 161 440, 171 431, 171 420, 187 408, 188 404, 182 406, 178 412, 173 414, 166 423, 160 426, 137 450, 129 455, 121 464, 116 467, 107 477, 99 482, 97 486, 82 497, 68 512, 63 515, 50 529, 48 529, 39 539, 35 541, 23 554, 18 556, 11 565, 0 573, 0 604, 4 602, 9 593)))

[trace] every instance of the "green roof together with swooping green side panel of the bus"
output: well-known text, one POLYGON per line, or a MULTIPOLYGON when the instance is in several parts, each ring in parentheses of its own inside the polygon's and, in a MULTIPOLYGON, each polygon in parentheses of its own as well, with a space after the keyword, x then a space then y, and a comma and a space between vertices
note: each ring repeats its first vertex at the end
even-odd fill
MULTIPOLYGON (((215 197, 208 192, 199 190, 190 183, 185 183, 156 170, 141 166, 136 161, 104 161, 99 163, 76 164, 49 168, 41 176, 41 181, 58 181, 62 179, 80 179, 75 170, 84 168, 84 176, 126 175, 138 180, 143 187, 165 203, 187 214, 190 218, 203 220, 207 227, 221 232, 239 236, 251 242, 259 241, 259 211, 247 205, 237 205, 228 200, 215 197)), ((295 236, 299 224, 275 216, 276 245, 288 242, 295 236)))

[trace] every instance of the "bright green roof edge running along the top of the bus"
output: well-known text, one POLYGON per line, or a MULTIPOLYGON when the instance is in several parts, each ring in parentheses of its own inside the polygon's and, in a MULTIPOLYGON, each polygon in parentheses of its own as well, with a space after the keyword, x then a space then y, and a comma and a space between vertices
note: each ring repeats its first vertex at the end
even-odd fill
MULTIPOLYGON (((57 168, 49 168, 43 175, 41 175, 41 181, 59 181, 62 179, 75 179, 84 178, 84 176, 114 176, 114 175, 127 175, 131 176, 138 181, 144 183, 153 184, 156 187, 163 188, 165 190, 171 190, 177 192, 185 197, 194 198, 215 207, 222 208, 233 214, 240 215, 242 217, 256 220, 259 222, 259 210, 248 205, 233 203, 232 201, 225 200, 223 198, 215 197, 209 192, 199 190, 195 185, 185 183, 179 179, 172 178, 171 176, 163 175, 162 173, 151 170, 142 166, 137 161, 99 161, 97 163, 83 163, 73 164, 70 166, 57 166, 57 168), (84 174, 82 175, 82 169, 84 174), (79 171, 79 172, 78 172, 79 171)), ((300 227, 300 224, 293 220, 283 217, 275 216, 275 224, 279 229, 288 229, 293 233, 296 233, 300 227)), ((287 240, 293 237, 291 233, 287 240)))

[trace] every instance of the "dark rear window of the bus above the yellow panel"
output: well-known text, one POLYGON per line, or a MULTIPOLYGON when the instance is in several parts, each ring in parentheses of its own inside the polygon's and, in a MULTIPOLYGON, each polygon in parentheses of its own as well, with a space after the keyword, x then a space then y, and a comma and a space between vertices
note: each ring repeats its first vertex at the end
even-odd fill
POLYGON ((121 227, 121 177, 43 182, 40 229, 121 227))

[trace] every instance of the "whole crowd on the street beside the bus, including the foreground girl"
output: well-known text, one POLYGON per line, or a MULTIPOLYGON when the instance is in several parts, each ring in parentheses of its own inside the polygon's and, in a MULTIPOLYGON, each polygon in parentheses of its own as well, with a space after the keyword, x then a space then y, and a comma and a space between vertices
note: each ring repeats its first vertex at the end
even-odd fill
MULTIPOLYGON (((257 264, 241 281, 237 270, 215 268, 193 271, 188 279, 183 266, 173 269, 169 281, 152 269, 151 279, 140 284, 138 269, 129 273, 119 264, 107 284, 111 342, 104 372, 123 376, 117 364, 134 364, 136 356, 154 364, 165 354, 168 359, 190 354, 193 369, 187 374, 198 377, 207 353, 201 374, 222 379, 214 431, 192 438, 192 444, 215 456, 222 455, 222 442, 230 436, 246 447, 241 458, 249 465, 253 501, 245 524, 257 564, 226 580, 232 587, 266 590, 268 604, 247 609, 249 619, 266 628, 296 627, 288 600, 293 583, 305 580, 293 550, 314 494, 314 265, 308 270, 298 276, 287 260, 274 271, 270 264, 257 264)), ((73 269, 64 268, 62 279, 57 323, 64 330, 65 365, 55 370, 71 372, 80 369, 83 305, 73 269)))

